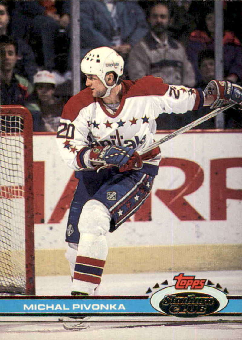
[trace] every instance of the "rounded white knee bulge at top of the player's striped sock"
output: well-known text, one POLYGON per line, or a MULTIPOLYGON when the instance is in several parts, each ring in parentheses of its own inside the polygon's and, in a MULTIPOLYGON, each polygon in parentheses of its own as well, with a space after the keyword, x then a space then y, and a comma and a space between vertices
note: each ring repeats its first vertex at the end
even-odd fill
POLYGON ((110 214, 97 200, 87 201, 81 212, 78 229, 81 234, 105 235, 109 230, 110 214))

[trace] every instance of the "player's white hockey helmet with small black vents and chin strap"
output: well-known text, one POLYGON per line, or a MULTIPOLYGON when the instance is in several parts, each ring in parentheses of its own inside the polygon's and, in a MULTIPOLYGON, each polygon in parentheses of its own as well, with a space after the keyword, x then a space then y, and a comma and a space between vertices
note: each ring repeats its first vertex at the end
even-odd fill
POLYGON ((102 98, 109 96, 111 89, 117 85, 119 77, 123 74, 123 68, 124 60, 121 55, 106 46, 89 51, 81 61, 81 71, 85 74, 97 75, 107 88, 102 98), (117 74, 117 81, 114 85, 108 86, 105 82, 105 75, 112 71, 117 74))

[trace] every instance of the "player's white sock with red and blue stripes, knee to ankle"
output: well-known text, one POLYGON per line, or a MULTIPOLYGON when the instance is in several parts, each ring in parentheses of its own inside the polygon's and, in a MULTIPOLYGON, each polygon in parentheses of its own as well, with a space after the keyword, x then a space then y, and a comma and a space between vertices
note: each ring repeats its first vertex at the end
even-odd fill
POLYGON ((103 267, 107 258, 106 233, 110 214, 99 201, 88 201, 79 219, 80 240, 73 275, 72 291, 94 295, 101 282, 103 267))

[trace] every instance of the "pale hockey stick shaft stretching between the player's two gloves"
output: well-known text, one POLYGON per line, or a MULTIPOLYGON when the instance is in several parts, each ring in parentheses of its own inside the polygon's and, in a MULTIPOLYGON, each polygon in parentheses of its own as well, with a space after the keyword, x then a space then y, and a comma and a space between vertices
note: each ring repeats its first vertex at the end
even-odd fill
POLYGON ((147 148, 144 148, 142 150, 137 151, 139 155, 143 155, 144 153, 154 149, 155 147, 159 146, 160 144, 163 144, 164 142, 166 142, 169 139, 172 139, 180 134, 182 134, 183 132, 186 132, 192 128, 194 128, 194 126, 197 126, 203 122, 205 122, 206 120, 213 118, 215 116, 217 116, 218 114, 220 114, 221 112, 224 112, 225 110, 227 110, 228 108, 232 107, 236 105, 235 103, 230 103, 224 107, 218 107, 215 110, 209 112, 208 114, 206 114, 205 116, 202 116, 196 120, 194 120, 193 122, 183 126, 182 128, 166 135, 165 137, 161 138, 160 140, 158 140, 157 142, 152 143, 150 146, 148 146, 147 148))

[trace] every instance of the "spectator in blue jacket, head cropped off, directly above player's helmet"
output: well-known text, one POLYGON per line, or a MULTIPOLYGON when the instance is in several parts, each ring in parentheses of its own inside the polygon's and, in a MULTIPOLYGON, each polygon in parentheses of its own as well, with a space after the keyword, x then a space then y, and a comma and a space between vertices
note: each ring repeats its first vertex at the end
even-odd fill
POLYGON ((124 58, 146 34, 142 8, 135 1, 81 1, 82 54, 108 46, 124 58))

